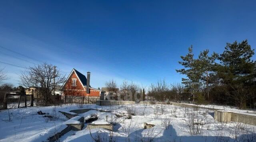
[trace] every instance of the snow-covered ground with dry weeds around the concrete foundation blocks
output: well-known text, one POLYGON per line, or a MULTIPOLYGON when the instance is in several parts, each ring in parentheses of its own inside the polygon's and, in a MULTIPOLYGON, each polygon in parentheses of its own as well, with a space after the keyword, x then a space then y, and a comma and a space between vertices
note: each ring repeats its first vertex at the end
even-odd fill
MULTIPOLYGON (((212 107, 219 107, 210 105, 212 107)), ((214 120, 214 111, 182 108, 172 105, 120 105, 97 106, 79 116, 86 120, 95 118, 94 124, 113 124, 113 131, 103 128, 80 131, 71 130, 60 138, 61 142, 234 142, 256 141, 256 126, 238 122, 221 123, 214 120), (100 112, 105 110, 110 112, 100 112), (154 127, 144 129, 143 123, 154 127)), ((240 112, 236 108, 222 107, 240 112)), ((0 142, 42 142, 66 128, 68 118, 58 111, 81 109, 74 105, 28 107, 8 109, 0 112, 0 142), (38 115, 38 111, 46 113, 38 115)))

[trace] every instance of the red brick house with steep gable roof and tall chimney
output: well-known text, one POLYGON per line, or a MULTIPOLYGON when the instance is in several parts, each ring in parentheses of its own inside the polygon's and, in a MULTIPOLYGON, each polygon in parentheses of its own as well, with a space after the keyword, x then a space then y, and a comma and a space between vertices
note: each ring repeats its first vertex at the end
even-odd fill
POLYGON ((87 77, 88 80, 84 74, 73 69, 61 87, 63 91, 62 99, 68 103, 76 102, 76 100, 80 101, 81 96, 84 96, 85 103, 94 103, 99 100, 100 94, 103 93, 104 95, 104 91, 90 86, 90 72, 87 72, 87 77), (87 88, 89 88, 89 92, 87 92, 87 88))

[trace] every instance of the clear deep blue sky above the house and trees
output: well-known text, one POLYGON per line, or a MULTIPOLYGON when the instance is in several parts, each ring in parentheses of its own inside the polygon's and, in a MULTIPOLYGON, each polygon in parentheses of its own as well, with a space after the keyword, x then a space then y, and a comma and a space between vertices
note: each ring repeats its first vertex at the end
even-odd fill
MULTIPOLYGON (((2 0, 0 46, 30 58, 0 48, 15 57, 0 54, 0 61, 90 71, 95 88, 110 79, 143 86, 164 78, 178 83, 182 75, 175 69, 182 68, 178 61, 190 45, 196 56, 204 49, 221 53, 235 40, 248 39, 255 49, 255 5, 255 0, 2 0)), ((24 69, 0 63, 3 67, 6 82, 18 85, 24 69)))

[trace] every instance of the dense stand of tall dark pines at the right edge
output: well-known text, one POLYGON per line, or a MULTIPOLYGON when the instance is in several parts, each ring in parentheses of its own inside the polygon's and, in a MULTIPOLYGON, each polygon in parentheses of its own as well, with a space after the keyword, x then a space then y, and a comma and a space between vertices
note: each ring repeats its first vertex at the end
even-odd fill
POLYGON ((254 107, 256 96, 256 62, 252 60, 254 49, 247 40, 227 43, 224 52, 209 55, 209 50, 194 57, 193 48, 181 56, 184 68, 176 70, 184 74, 182 84, 190 94, 190 100, 198 103, 217 103, 254 107))

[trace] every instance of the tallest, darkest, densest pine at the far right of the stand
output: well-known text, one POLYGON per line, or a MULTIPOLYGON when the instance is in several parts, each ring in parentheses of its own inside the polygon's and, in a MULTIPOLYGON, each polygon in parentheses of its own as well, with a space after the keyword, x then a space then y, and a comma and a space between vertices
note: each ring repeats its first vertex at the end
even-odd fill
POLYGON ((247 40, 241 43, 227 43, 219 56, 218 76, 226 86, 226 94, 239 108, 246 107, 246 102, 255 97, 255 67, 251 60, 254 50, 247 40))

